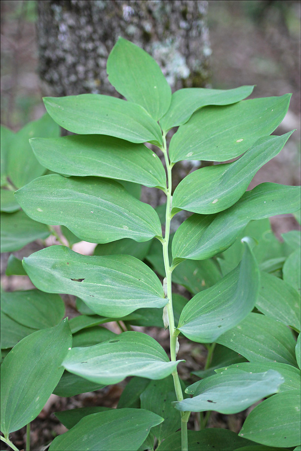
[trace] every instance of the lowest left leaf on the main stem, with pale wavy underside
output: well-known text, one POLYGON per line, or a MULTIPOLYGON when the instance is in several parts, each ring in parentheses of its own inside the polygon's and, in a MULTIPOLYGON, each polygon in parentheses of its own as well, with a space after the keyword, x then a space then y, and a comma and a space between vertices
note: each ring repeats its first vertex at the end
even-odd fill
POLYGON ((73 348, 63 362, 71 373, 99 384, 116 384, 127 376, 164 379, 177 367, 154 338, 141 332, 123 332, 86 348, 73 348))

